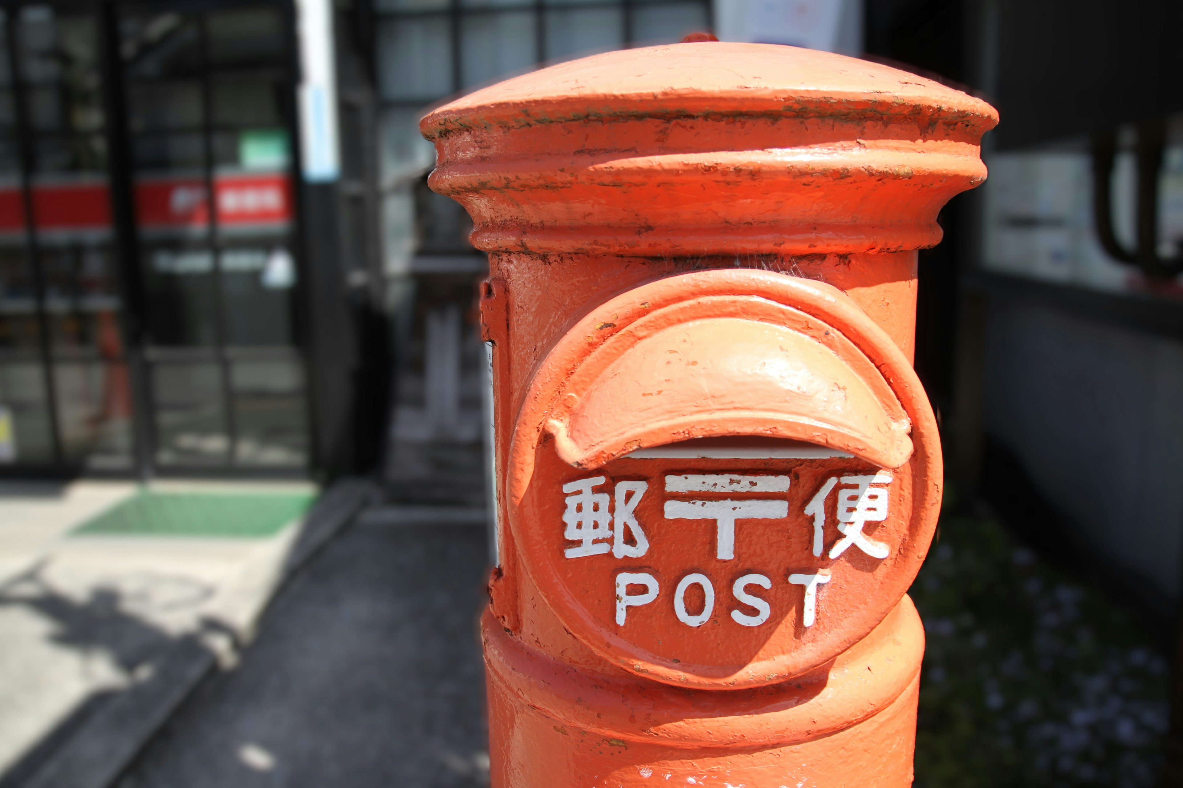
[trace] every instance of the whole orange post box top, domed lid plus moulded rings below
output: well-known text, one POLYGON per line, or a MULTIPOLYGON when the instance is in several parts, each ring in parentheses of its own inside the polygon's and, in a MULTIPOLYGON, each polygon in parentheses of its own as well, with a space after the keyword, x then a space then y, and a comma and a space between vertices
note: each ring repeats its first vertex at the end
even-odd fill
POLYGON ((703 41, 608 52, 424 118, 486 252, 897 252, 985 177, 982 100, 888 66, 703 41))

